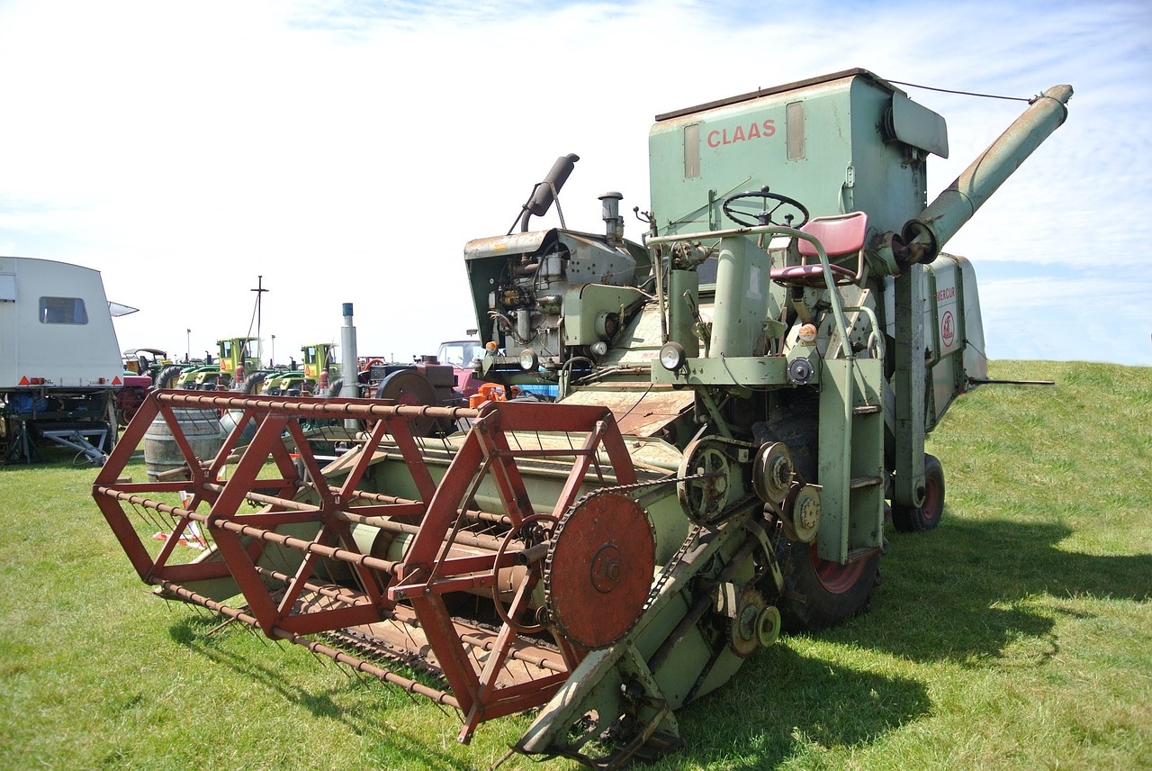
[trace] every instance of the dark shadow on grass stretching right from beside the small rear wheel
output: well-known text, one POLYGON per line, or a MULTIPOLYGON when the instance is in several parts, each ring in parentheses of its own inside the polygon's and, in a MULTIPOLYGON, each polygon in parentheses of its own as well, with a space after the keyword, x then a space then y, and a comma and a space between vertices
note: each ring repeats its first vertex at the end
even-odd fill
POLYGON ((1059 523, 953 517, 932 532, 896 535, 872 610, 851 633, 832 634, 920 662, 979 665, 1023 637, 1046 641, 1054 653, 1055 621, 1031 610, 1031 598, 1152 597, 1152 554, 1058 549, 1071 534, 1059 523))

